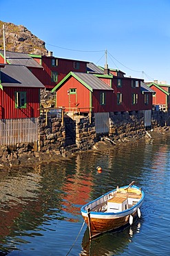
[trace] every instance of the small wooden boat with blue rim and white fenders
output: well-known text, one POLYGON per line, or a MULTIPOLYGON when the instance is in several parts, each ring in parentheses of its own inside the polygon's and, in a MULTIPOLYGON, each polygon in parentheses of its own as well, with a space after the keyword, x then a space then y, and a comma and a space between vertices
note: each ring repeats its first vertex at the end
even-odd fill
POLYGON ((144 197, 145 193, 133 181, 83 205, 81 214, 89 227, 90 239, 103 232, 131 225, 135 217, 140 217, 144 197))

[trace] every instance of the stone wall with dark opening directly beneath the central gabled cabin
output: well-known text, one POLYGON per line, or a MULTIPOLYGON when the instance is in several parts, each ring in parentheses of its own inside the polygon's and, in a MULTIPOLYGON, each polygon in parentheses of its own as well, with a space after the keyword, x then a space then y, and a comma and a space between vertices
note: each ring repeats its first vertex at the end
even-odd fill
POLYGON ((60 154, 91 149, 96 143, 94 117, 89 116, 72 120, 65 116, 64 125, 61 118, 39 118, 39 151, 56 150, 60 154))

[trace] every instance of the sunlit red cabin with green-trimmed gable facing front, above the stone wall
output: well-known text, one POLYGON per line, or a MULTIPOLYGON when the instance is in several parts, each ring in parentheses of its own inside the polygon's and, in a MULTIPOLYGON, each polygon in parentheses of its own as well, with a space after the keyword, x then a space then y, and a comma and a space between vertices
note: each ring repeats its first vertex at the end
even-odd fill
POLYGON ((89 111, 89 108, 93 108, 93 112, 113 111, 114 90, 95 75, 70 72, 54 87, 54 91, 56 107, 78 107, 82 112, 89 111))

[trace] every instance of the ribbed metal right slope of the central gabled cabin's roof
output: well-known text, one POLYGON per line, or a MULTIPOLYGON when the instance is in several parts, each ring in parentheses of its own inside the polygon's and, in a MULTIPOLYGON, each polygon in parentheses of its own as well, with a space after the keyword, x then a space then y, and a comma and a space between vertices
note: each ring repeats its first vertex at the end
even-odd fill
POLYGON ((109 85, 105 84, 105 82, 101 81, 95 75, 78 72, 72 72, 72 74, 74 74, 75 78, 78 78, 79 82, 82 81, 84 84, 87 84, 92 90, 114 91, 114 89, 109 87, 109 85))

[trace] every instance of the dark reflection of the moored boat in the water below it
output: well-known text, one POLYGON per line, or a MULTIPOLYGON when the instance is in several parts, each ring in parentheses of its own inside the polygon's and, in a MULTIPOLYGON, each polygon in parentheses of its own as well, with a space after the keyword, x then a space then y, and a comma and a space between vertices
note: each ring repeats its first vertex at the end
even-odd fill
POLYGON ((83 236, 80 256, 120 255, 133 239, 133 235, 140 232, 140 225, 141 223, 136 221, 130 228, 125 228, 121 232, 107 232, 92 241, 89 241, 89 228, 87 228, 83 236))

